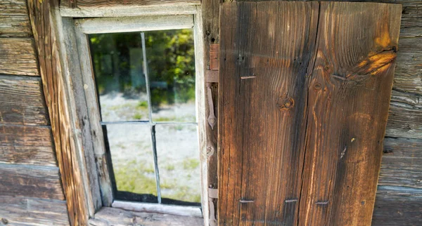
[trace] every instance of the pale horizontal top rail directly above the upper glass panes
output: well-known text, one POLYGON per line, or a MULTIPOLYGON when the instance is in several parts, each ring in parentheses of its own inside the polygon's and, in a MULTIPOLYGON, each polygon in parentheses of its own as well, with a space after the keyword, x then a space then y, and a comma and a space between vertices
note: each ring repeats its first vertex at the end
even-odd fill
POLYGON ((75 25, 85 34, 186 29, 193 27, 192 15, 147 15, 124 18, 77 19, 75 25))

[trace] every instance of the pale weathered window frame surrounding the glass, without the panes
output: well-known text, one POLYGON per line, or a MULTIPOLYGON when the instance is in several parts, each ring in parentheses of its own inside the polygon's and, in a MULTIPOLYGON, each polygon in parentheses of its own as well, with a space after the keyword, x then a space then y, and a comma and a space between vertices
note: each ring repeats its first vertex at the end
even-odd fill
MULTIPOLYGON (((78 107, 86 107, 89 119, 79 119, 89 123, 89 138, 82 138, 84 131, 77 131, 82 136, 79 159, 82 171, 88 179, 84 179, 85 194, 88 200, 89 216, 94 217, 102 206, 125 208, 132 211, 169 213, 173 215, 190 215, 204 218, 209 225, 208 182, 207 182, 207 149, 205 147, 205 75, 203 72, 203 29, 200 6, 148 7, 148 8, 114 8, 98 11, 79 11, 78 9, 60 9, 63 30, 59 35, 63 42, 60 55, 65 58, 65 72, 70 74, 72 89, 84 95, 84 103, 78 107), (79 18, 84 17, 84 18, 79 18), (93 67, 89 53, 88 34, 116 32, 146 32, 163 29, 193 28, 196 66, 196 118, 198 121, 198 142, 200 149, 201 205, 200 208, 171 206, 165 204, 144 204, 140 202, 114 201, 106 164, 106 147, 104 145, 101 117, 98 109, 93 67), (82 141, 84 140, 84 141, 82 141), (88 140, 88 141, 85 141, 88 140), (91 142, 89 146, 87 142, 91 142), (82 160, 84 159, 84 161, 82 160), (96 181, 95 181, 96 180, 96 181), (202 212, 202 213, 201 213, 202 212)), ((77 103, 78 105, 78 103, 77 103)))

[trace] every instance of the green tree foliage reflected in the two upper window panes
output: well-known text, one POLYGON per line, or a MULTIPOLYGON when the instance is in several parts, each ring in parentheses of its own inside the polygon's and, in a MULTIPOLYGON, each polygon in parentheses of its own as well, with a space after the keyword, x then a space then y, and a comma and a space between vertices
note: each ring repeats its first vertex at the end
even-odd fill
MULTIPOLYGON (((132 96, 146 92, 139 32, 91 34, 89 37, 100 94, 116 91, 132 96)), ((145 38, 153 106, 193 100, 195 51, 192 30, 145 32, 145 38)))

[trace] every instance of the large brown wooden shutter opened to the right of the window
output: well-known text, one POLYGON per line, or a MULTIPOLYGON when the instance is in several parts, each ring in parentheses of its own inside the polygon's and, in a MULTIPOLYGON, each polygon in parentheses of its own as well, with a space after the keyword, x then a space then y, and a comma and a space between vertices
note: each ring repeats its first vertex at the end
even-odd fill
POLYGON ((401 6, 220 15, 219 225, 370 225, 401 6))

